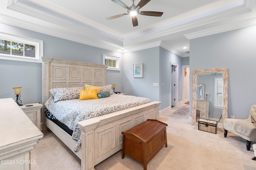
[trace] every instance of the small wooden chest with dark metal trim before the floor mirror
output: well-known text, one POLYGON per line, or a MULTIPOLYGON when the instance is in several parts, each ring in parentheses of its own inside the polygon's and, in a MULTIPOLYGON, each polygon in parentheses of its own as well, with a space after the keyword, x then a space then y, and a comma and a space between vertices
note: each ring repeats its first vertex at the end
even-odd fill
POLYGON ((217 133, 218 121, 209 119, 199 119, 198 120, 198 130, 206 131, 210 133, 217 133))

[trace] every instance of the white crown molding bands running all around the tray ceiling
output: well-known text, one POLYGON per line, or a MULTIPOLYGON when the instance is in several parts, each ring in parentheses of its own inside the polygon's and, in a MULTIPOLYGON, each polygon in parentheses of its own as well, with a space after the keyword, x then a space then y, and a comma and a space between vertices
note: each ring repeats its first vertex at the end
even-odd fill
MULTIPOLYGON (((222 12, 218 12, 217 14, 208 14, 208 16, 205 16, 203 18, 200 18, 200 16, 195 16, 188 20, 182 21, 182 23, 177 22, 177 23, 172 23, 166 27, 162 27, 161 28, 162 30, 159 29, 160 31, 158 32, 153 33, 152 31, 154 30, 151 30, 145 35, 142 35, 142 36, 137 35, 136 37, 131 37, 128 40, 123 40, 118 37, 109 35, 107 33, 104 33, 103 31, 94 29, 88 25, 78 25, 76 24, 76 22, 71 22, 68 20, 64 20, 62 18, 58 18, 46 12, 37 10, 36 8, 32 8, 26 4, 22 4, 17 0, 10 0, 8 4, 8 9, 22 13, 22 14, 26 14, 30 17, 38 18, 45 22, 49 22, 50 26, 52 27, 50 26, 46 27, 45 25, 43 25, 43 23, 39 25, 39 24, 32 23, 32 21, 31 22, 22 21, 16 18, 5 16, 3 14, 0 14, 1 16, 0 22, 8 25, 13 25, 16 27, 21 27, 24 29, 36 31, 39 33, 44 33, 44 34, 52 35, 55 37, 68 39, 78 43, 83 43, 86 45, 91 45, 94 47, 110 50, 110 51, 120 52, 120 49, 124 47, 126 48, 126 50, 122 51, 122 53, 128 53, 132 51, 138 51, 138 50, 147 49, 151 47, 161 46, 164 49, 167 49, 168 51, 175 53, 176 55, 179 55, 181 57, 187 57, 187 55, 189 56, 189 54, 184 54, 183 52, 180 52, 161 41, 155 41, 153 43, 148 43, 148 44, 145 44, 145 42, 149 40, 152 41, 152 39, 157 39, 159 37, 170 35, 172 33, 177 33, 179 31, 192 29, 192 28, 213 23, 216 21, 221 21, 227 18, 231 18, 232 16, 237 16, 239 14, 251 12, 254 4, 255 4, 255 0, 244 0, 243 5, 234 7, 232 9, 224 10, 222 12), (59 30, 64 30, 64 31, 60 32, 59 30)), ((232 25, 236 26, 237 27, 236 29, 238 29, 239 28, 238 23, 236 24, 232 24, 232 25)), ((240 28, 241 27, 242 27, 242 23, 240 24, 240 28)), ((207 29, 207 30, 195 32, 192 34, 186 34, 185 36, 188 39, 191 39, 194 37, 211 35, 214 33, 220 33, 221 31, 223 32, 223 31, 229 31, 229 30, 232 30, 232 29, 230 27, 228 28, 228 25, 226 25, 226 27, 223 27, 223 28, 217 27, 217 29, 216 28, 207 29)))

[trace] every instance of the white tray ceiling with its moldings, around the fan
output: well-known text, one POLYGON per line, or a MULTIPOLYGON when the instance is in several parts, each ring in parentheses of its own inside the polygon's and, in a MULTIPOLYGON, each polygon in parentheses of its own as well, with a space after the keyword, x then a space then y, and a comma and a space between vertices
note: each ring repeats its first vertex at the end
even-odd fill
POLYGON ((129 15, 106 20, 127 13, 111 0, 1 0, 0 22, 120 53, 161 46, 186 57, 189 39, 256 25, 255 1, 151 0, 140 11, 164 14, 138 15, 133 27, 129 15))

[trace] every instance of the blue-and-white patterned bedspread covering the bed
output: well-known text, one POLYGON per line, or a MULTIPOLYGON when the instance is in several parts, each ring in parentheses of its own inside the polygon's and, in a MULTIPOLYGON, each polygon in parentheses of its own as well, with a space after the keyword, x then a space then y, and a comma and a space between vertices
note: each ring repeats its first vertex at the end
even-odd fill
POLYGON ((78 152, 81 146, 81 130, 77 122, 150 102, 151 100, 148 98, 114 94, 107 98, 92 100, 73 99, 55 103, 51 97, 47 100, 45 106, 49 111, 48 117, 58 119, 58 121, 73 130, 72 139, 77 141, 74 151, 78 152))

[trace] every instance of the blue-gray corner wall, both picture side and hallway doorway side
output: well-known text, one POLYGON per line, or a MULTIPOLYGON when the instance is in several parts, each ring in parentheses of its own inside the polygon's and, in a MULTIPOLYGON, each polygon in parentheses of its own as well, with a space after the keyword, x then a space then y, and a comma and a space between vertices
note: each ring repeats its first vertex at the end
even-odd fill
MULTIPOLYGON (((186 59, 186 64, 188 59, 186 59)), ((160 110, 170 107, 170 63, 178 64, 179 102, 182 100, 182 57, 162 48, 154 47, 126 53, 123 57, 124 93, 144 96, 162 102, 160 110), (133 78, 133 64, 143 63, 143 78, 133 78), (153 83, 158 83, 154 87, 153 83), (164 86, 163 86, 164 83, 164 86)))

